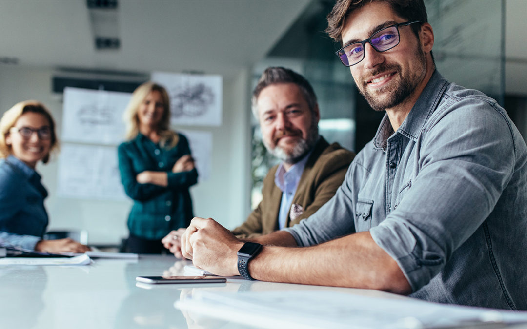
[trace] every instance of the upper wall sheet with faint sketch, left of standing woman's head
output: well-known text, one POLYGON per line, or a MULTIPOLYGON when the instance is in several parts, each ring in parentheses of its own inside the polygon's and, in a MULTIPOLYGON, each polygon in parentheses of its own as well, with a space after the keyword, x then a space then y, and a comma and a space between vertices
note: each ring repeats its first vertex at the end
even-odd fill
POLYGON ((64 88, 62 140, 117 145, 124 138, 123 113, 130 93, 64 88))

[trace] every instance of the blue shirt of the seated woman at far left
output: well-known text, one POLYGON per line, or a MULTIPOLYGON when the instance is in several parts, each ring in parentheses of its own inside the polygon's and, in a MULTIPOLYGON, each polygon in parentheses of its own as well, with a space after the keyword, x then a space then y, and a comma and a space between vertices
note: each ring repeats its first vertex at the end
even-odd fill
POLYGON ((41 176, 16 157, 0 159, 0 242, 33 250, 48 224, 41 176))

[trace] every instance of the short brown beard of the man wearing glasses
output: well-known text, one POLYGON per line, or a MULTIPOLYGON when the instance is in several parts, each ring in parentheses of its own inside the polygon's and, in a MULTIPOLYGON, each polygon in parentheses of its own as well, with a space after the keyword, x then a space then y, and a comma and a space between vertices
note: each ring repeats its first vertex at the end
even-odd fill
POLYGON ((366 79, 361 79, 362 83, 360 85, 357 84, 359 93, 366 98, 369 106, 375 111, 384 111, 387 108, 392 108, 403 103, 412 95, 417 85, 421 83, 426 73, 426 58, 420 46, 416 49, 415 55, 419 65, 417 69, 414 69, 414 71, 408 72, 407 74, 403 74, 401 65, 398 64, 383 64, 377 67, 374 72, 368 73, 368 76, 375 76, 381 72, 395 71, 400 79, 398 85, 392 84, 391 86, 380 87, 375 91, 370 92, 368 91, 366 79), (376 96, 378 93, 385 94, 388 97, 381 99, 376 96))

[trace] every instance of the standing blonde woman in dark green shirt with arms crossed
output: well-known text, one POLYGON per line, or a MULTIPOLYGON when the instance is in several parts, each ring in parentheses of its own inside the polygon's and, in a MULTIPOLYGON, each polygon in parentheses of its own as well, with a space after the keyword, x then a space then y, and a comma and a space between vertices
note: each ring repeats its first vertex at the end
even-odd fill
POLYGON ((147 82, 135 89, 124 113, 127 141, 119 145, 119 170, 133 200, 124 251, 161 254, 161 238, 192 219, 189 187, 198 172, 189 142, 170 129, 167 91, 147 82))

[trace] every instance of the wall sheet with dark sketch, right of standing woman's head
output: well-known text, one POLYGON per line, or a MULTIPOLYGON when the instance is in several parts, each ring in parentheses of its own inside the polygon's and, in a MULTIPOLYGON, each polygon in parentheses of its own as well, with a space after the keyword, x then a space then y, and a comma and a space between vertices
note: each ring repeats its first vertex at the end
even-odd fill
POLYGON ((151 79, 167 88, 173 125, 221 125, 220 75, 153 72, 151 79))

